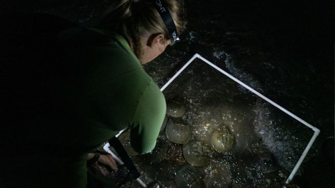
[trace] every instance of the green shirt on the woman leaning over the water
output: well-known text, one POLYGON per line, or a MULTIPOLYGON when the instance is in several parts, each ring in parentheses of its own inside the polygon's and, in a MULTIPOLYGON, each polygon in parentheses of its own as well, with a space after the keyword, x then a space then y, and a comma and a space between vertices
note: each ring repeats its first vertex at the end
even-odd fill
POLYGON ((73 92, 66 98, 75 104, 83 123, 78 126, 82 134, 66 142, 97 146, 130 127, 135 151, 150 152, 166 103, 125 39, 111 31, 85 28, 72 28, 59 36, 67 58, 78 63, 79 79, 69 86, 73 92))

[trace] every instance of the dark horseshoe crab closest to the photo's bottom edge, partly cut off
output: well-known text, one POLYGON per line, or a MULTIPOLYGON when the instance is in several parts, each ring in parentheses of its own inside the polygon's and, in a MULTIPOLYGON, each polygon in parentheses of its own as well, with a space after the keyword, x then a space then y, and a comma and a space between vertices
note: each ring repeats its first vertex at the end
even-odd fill
POLYGON ((185 165, 175 174, 175 182, 179 188, 206 187, 204 174, 196 167, 185 165))

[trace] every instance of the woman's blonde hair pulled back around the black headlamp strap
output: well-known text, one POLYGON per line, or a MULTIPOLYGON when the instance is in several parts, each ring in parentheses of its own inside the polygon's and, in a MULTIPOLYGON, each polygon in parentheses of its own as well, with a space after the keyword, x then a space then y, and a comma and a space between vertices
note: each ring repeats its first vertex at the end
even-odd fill
MULTIPOLYGON (((107 11, 101 26, 122 35, 140 59, 141 36, 149 33, 163 33, 165 40, 171 39, 170 33, 153 3, 156 0, 120 0, 107 11)), ((169 10, 177 32, 185 29, 183 5, 177 0, 161 0, 169 10)))

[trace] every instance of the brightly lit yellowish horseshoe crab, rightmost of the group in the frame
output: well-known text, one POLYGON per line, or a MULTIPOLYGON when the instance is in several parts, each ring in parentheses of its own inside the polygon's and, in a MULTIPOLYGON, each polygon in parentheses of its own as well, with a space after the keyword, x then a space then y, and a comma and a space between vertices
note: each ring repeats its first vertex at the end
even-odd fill
POLYGON ((223 153, 229 152, 235 143, 234 135, 227 128, 223 128, 221 131, 213 130, 210 140, 216 151, 223 153))

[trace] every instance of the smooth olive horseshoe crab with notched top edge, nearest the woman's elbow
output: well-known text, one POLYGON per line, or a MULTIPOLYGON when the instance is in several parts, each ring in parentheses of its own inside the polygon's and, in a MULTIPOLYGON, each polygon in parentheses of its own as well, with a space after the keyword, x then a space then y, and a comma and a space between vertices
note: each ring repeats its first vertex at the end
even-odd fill
POLYGON ((191 138, 192 131, 188 124, 174 124, 172 120, 169 119, 166 125, 165 134, 167 139, 171 142, 184 144, 191 138))

